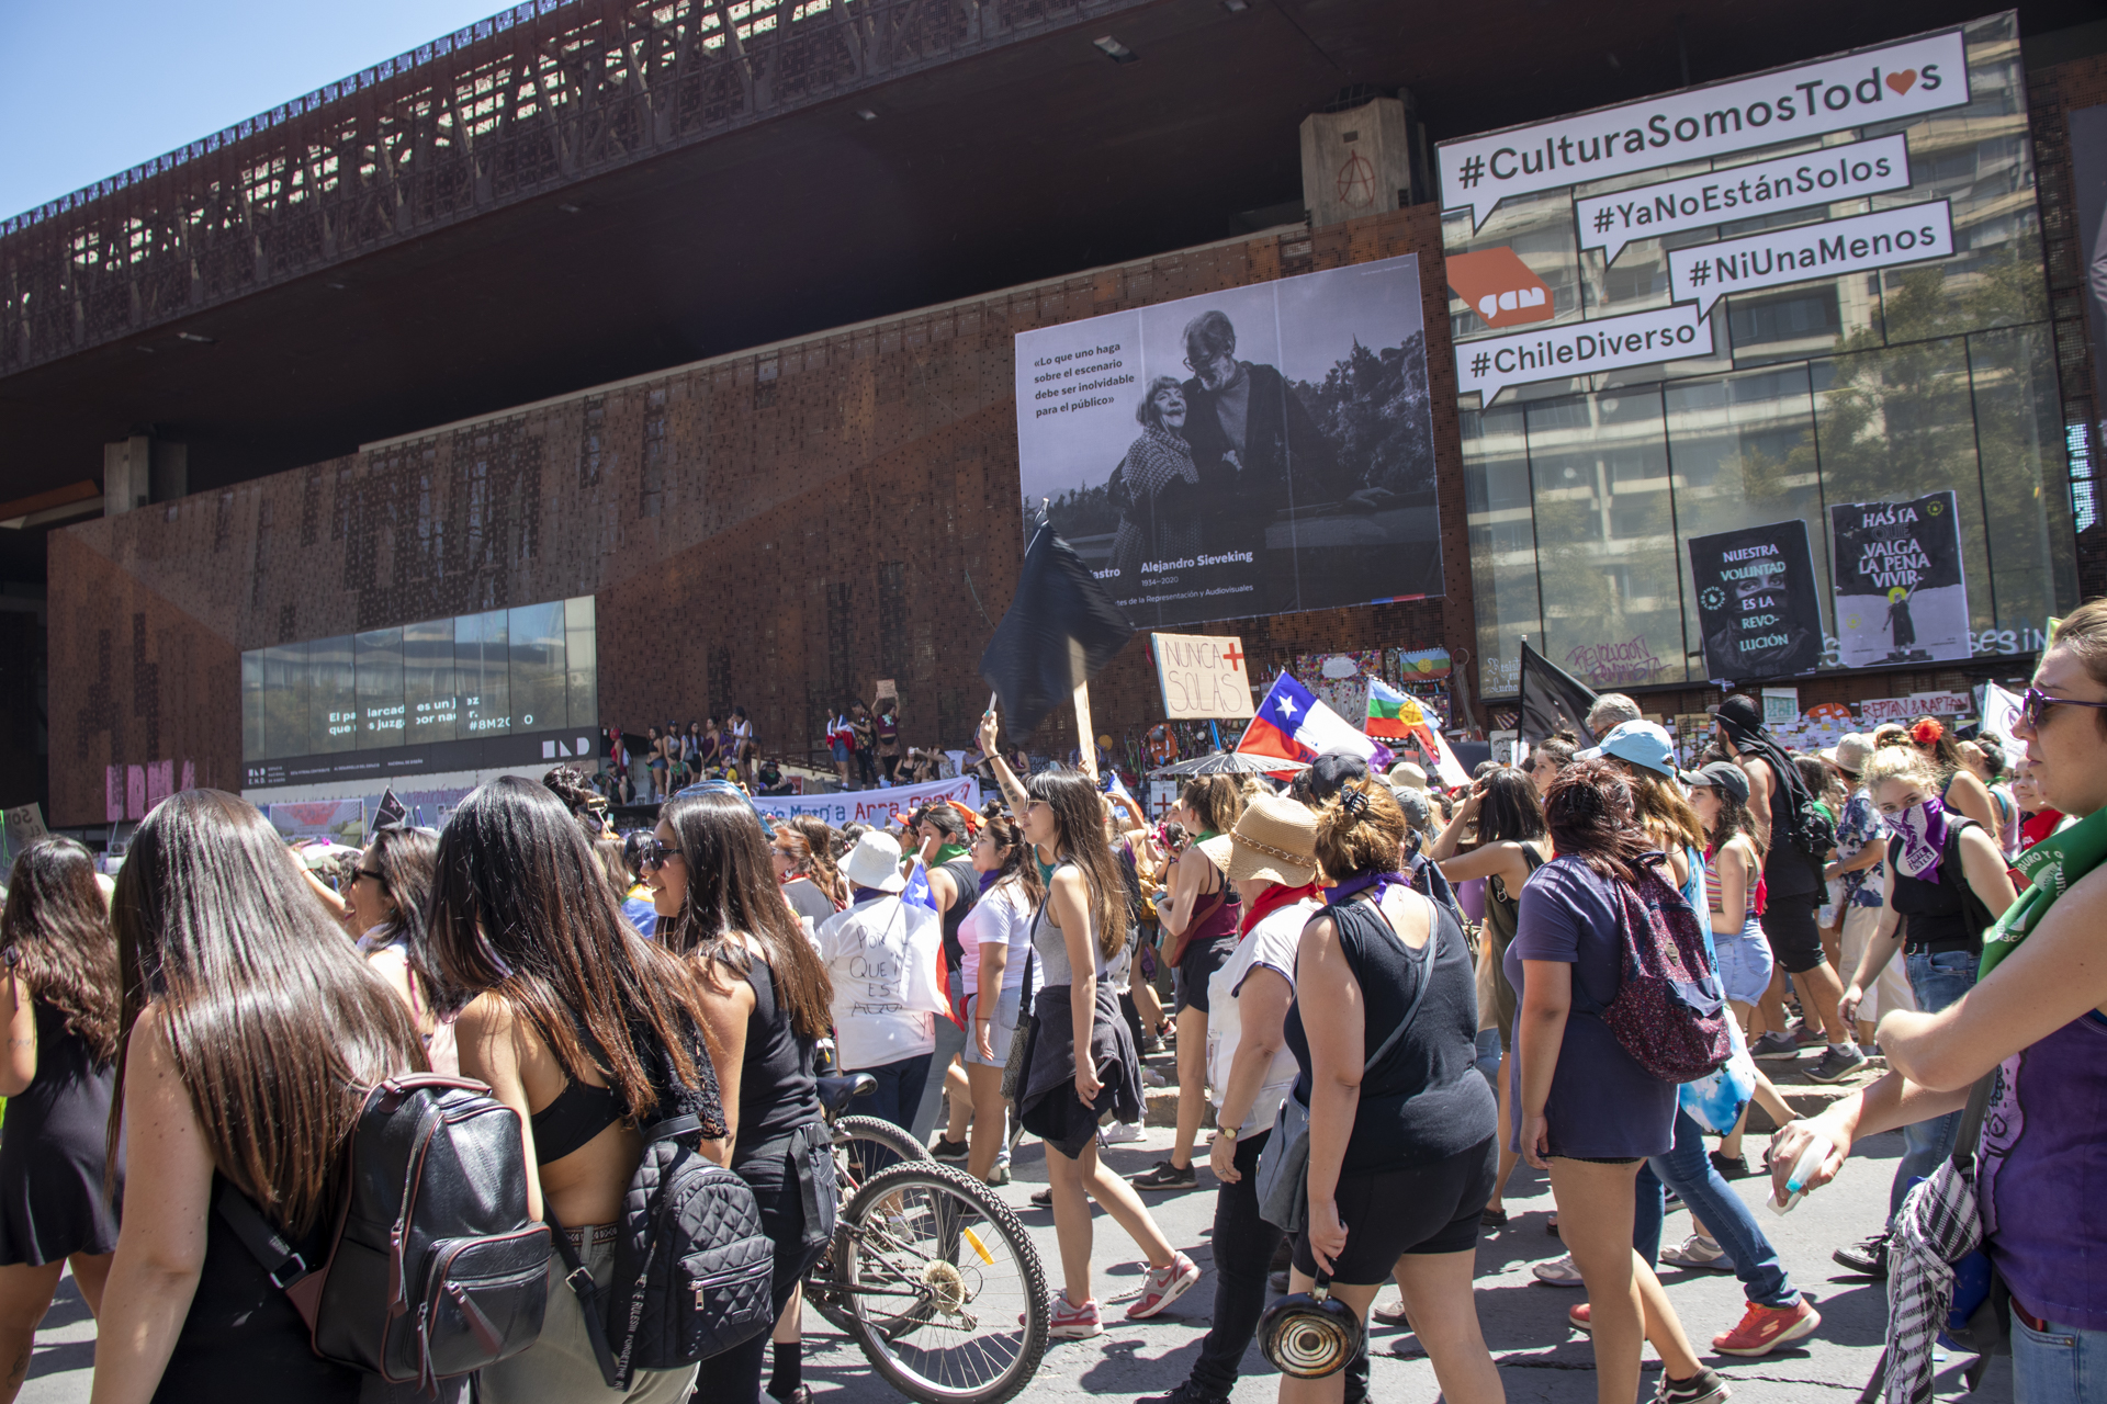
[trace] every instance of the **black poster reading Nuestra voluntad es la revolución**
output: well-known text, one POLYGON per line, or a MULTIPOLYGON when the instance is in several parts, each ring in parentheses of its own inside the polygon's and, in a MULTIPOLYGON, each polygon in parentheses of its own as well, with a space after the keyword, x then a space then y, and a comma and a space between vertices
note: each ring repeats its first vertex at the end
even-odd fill
POLYGON ((1690 577, 1713 682, 1785 678, 1823 661, 1823 608, 1799 518, 1690 537, 1690 577))

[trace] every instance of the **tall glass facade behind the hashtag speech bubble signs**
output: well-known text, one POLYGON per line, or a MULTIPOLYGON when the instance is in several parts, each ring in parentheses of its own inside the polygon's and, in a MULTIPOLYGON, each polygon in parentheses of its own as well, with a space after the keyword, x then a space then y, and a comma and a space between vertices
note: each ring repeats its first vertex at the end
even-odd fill
MULTIPOLYGON (((1702 358, 1511 387, 1462 413, 1483 686, 1513 693, 1525 636, 1599 686, 1702 682, 1683 543, 1808 524, 1829 604, 1829 507, 1953 488, 1978 657, 2025 653, 2078 598, 2069 461, 2042 282, 2033 152, 2010 15, 1968 25, 1970 103, 1683 162, 1445 219, 1448 253, 1507 244, 1555 322, 1669 303, 1667 250, 1867 210, 1953 202, 1955 253, 1724 297, 1702 358), (1580 248, 1574 200, 1907 133, 1911 185, 1873 198, 1580 248)), ((1496 335, 1452 297, 1458 345, 1496 335)), ((1831 657, 1831 661, 1835 661, 1831 657)))

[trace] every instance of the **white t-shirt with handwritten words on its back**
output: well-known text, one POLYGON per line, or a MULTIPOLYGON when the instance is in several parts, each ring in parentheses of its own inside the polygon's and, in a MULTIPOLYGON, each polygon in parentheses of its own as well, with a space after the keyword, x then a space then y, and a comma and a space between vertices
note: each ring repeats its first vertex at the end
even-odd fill
POLYGON ((818 937, 834 981, 834 1055, 843 1071, 936 1052, 936 1017, 908 1008, 910 947, 944 941, 936 911, 874 897, 820 922, 818 937))

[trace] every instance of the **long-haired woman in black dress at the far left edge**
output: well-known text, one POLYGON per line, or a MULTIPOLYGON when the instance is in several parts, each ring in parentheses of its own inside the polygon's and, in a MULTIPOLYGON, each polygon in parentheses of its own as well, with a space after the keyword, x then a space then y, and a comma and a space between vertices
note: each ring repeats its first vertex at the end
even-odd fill
POLYGON ((88 1311, 103 1309, 118 1242, 122 1168, 103 1198, 103 1130, 116 1088, 118 943, 95 859, 70 838, 42 838, 15 859, 0 916, 0 1400, 29 1368, 36 1326, 59 1273, 88 1311))

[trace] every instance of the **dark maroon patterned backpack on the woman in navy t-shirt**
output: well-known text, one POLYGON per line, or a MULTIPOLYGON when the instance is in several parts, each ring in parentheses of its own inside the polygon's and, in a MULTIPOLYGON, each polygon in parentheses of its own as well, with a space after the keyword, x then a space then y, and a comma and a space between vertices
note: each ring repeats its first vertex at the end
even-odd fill
POLYGON ((1601 1021, 1639 1067, 1662 1082, 1696 1082, 1726 1065, 1726 994, 1705 949, 1698 916, 1652 865, 1639 882, 1616 882, 1624 928, 1624 979, 1601 1021))

